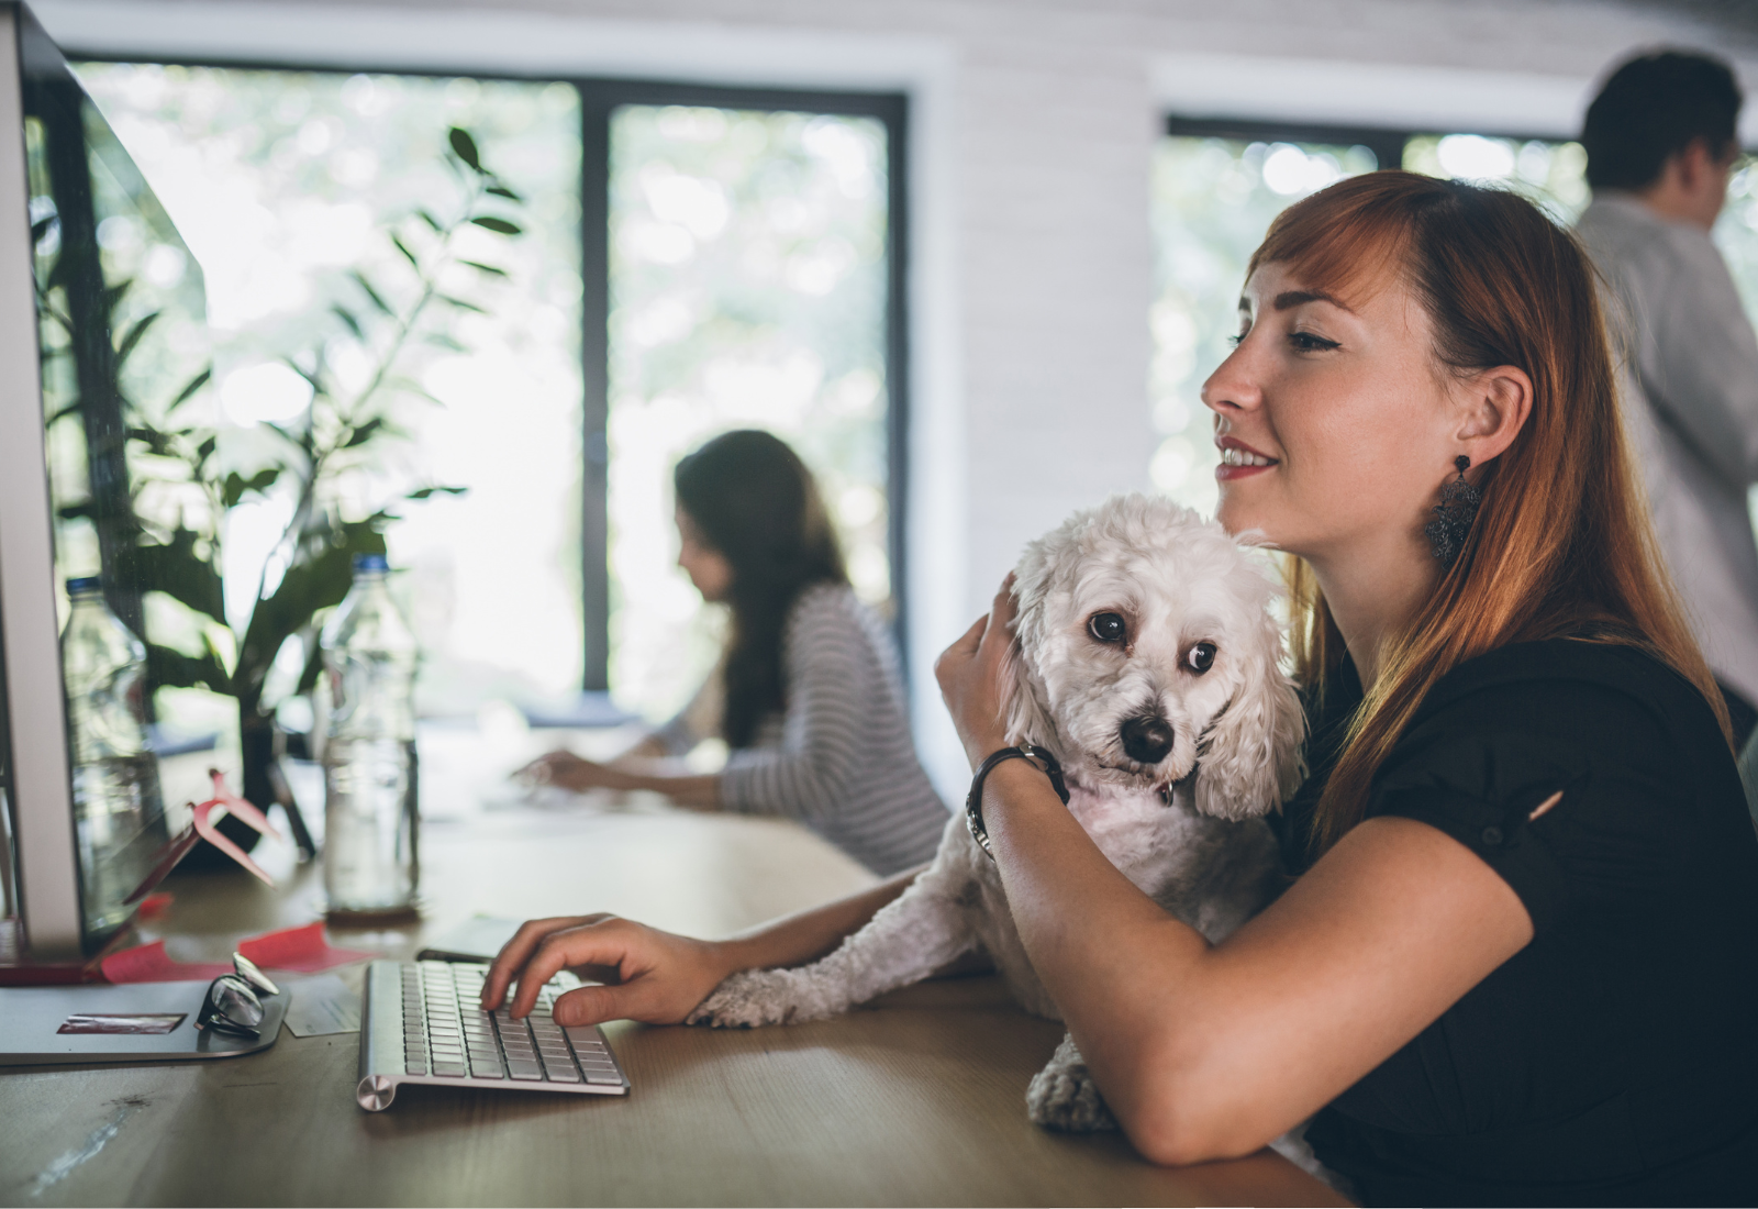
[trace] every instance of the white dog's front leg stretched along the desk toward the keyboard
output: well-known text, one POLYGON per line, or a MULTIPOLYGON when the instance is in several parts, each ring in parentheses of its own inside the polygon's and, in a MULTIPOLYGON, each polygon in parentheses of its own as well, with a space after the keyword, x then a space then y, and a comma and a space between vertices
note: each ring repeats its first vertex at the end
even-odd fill
POLYGON ((825 1019, 923 981, 977 944, 948 882, 960 879, 935 865, 828 958, 796 970, 735 974, 686 1023, 751 1028, 825 1019))

